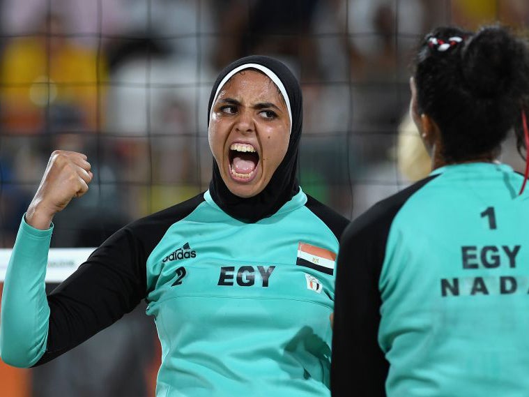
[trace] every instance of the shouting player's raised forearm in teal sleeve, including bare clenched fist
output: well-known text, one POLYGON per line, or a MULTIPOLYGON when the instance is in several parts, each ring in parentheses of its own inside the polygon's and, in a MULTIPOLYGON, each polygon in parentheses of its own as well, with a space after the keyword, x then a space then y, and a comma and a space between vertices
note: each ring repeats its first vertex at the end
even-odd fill
POLYGON ((0 354, 7 364, 27 367, 46 349, 49 306, 44 278, 52 219, 92 179, 86 156, 54 151, 20 225, 2 294, 0 354))

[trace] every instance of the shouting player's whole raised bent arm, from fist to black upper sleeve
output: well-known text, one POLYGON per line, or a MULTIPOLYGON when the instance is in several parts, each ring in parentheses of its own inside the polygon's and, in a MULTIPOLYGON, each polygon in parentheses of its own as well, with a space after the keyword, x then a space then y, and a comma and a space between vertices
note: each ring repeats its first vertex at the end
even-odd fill
POLYGON ((51 222, 88 190, 81 153, 54 151, 17 234, 3 287, 0 354, 7 364, 43 364, 108 327, 145 296, 143 255, 123 228, 48 297, 45 274, 51 222))

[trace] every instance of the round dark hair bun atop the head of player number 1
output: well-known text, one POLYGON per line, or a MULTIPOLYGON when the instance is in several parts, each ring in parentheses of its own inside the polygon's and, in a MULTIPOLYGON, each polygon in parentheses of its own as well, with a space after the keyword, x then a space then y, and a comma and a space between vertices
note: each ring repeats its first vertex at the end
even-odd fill
POLYGON ((528 78, 521 76, 526 65, 523 47, 506 29, 480 29, 468 40, 461 54, 463 84, 477 98, 512 95, 518 84, 526 83, 528 78))

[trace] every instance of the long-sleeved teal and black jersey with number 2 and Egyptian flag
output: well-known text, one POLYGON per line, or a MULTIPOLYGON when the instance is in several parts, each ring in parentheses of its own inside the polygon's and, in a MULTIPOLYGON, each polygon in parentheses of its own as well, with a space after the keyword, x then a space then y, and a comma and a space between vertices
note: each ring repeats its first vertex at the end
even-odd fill
POLYGON ((162 343, 157 396, 329 396, 334 268, 345 218, 300 192, 242 223, 209 192, 118 231, 46 297, 52 230, 20 227, 1 357, 49 361, 141 299, 162 343))

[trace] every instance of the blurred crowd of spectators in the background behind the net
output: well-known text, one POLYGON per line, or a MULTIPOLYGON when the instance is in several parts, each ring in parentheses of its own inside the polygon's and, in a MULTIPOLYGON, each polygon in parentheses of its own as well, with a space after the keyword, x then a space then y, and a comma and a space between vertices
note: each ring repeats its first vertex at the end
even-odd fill
MULTIPOLYGON (((0 10, 2 248, 54 149, 86 153, 95 176, 56 216, 54 248, 97 246, 205 190, 210 87, 247 54, 298 76, 302 187, 355 218, 429 172, 407 117, 424 33, 500 22, 525 35, 529 23, 526 0, 0 0, 0 10)), ((523 167, 512 142, 503 161, 523 167)), ((0 396, 153 396, 160 347, 143 312, 45 366, 0 362, 0 396)))

